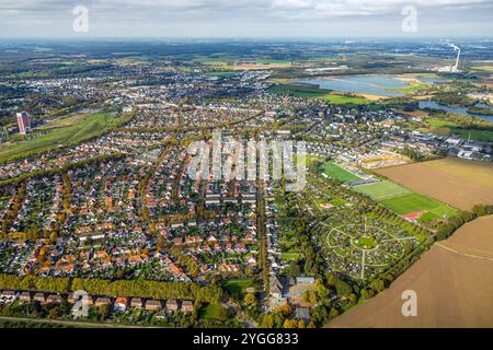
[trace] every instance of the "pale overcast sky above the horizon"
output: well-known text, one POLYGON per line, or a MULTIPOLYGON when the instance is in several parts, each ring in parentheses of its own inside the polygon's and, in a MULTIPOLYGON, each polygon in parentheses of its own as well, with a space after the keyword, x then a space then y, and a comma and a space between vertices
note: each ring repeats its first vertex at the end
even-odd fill
POLYGON ((493 0, 0 0, 0 37, 451 37, 493 33, 493 0), (402 31, 403 7, 417 10, 402 31), (89 11, 77 33, 73 9, 89 11))

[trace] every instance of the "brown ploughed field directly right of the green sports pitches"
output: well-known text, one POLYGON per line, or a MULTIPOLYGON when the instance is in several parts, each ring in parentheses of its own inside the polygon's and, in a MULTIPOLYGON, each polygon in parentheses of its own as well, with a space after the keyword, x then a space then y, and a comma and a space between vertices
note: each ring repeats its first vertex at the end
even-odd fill
POLYGON ((471 210, 479 203, 493 203, 491 163, 447 158, 376 172, 416 192, 462 210, 471 210))

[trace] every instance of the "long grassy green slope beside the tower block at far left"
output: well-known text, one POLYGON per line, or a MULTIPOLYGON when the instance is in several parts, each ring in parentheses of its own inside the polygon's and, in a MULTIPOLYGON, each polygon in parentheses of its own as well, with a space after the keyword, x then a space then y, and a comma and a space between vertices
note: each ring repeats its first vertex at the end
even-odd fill
POLYGON ((36 152, 45 152, 58 147, 80 143, 92 137, 102 135, 107 128, 118 125, 118 117, 110 117, 104 113, 88 115, 73 125, 46 131, 46 135, 27 141, 18 141, 0 148, 0 163, 14 158, 30 156, 36 152))

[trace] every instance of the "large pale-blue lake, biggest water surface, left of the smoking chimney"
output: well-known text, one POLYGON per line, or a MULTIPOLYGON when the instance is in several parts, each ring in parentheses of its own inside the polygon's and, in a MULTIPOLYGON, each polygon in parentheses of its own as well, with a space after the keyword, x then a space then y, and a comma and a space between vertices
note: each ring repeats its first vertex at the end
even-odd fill
POLYGON ((405 81, 389 75, 343 75, 331 79, 299 80, 298 82, 319 85, 320 89, 395 97, 404 94, 386 89, 408 86, 405 81))

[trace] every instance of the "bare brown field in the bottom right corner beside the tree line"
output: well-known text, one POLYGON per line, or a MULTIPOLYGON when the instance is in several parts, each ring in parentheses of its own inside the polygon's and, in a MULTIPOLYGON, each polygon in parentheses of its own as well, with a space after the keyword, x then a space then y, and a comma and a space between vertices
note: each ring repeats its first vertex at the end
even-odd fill
POLYGON ((493 327, 493 215, 435 245, 388 290, 328 327, 493 327), (416 317, 403 317, 402 292, 419 295, 416 317))

